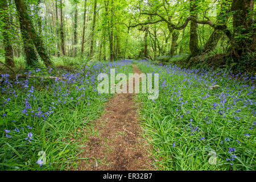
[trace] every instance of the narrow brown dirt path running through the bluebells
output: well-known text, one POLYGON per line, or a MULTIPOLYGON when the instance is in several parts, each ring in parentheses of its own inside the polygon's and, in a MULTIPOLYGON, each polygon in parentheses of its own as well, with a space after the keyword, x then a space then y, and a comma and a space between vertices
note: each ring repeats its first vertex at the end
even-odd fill
MULTIPOLYGON (((135 73, 141 73, 133 65, 135 73)), ((128 85, 128 84, 127 84, 128 85)), ((135 94, 116 94, 106 104, 105 114, 94 121, 92 132, 86 132, 86 143, 79 170, 154 170, 141 137, 135 94)))

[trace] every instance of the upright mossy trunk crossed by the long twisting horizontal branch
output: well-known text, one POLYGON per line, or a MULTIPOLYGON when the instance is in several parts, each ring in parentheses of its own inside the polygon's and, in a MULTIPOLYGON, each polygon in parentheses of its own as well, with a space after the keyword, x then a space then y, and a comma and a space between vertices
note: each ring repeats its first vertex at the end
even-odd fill
MULTIPOLYGON (((190 0, 189 11, 192 18, 197 18, 196 10, 196 0, 190 0)), ((195 20, 190 21, 190 40, 189 40, 189 49, 191 51, 192 56, 196 56, 199 54, 199 46, 198 46, 198 25, 195 20)))

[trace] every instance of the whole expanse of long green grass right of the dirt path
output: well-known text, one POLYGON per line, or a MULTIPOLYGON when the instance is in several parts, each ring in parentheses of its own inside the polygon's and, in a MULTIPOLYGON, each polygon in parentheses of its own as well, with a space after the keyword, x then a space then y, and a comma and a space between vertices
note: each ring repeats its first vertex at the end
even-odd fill
POLYGON ((144 73, 159 73, 159 98, 137 96, 158 169, 255 170, 255 78, 146 61, 137 65, 144 73), (214 154, 216 164, 210 164, 214 154))

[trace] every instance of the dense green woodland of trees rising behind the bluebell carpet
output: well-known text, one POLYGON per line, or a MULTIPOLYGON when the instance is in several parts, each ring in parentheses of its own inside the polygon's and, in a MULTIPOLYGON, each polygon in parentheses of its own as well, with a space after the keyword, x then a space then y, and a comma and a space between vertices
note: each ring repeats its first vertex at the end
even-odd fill
POLYGON ((228 56, 239 69, 254 66, 255 32, 253 0, 1 1, 1 55, 11 68, 16 58, 48 67, 52 57, 170 62, 222 55, 216 59, 228 56))

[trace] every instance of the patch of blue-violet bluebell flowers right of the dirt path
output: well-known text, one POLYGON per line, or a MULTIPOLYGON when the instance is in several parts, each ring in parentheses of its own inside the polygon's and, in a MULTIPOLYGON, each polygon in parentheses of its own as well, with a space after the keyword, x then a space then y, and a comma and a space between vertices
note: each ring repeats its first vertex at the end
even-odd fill
MULTIPOLYGON (((218 146, 218 155, 225 155, 220 151, 225 150, 227 144, 245 147, 248 142, 254 142, 256 75, 234 75, 230 70, 216 72, 206 69, 185 69, 174 64, 154 64, 143 60, 138 62, 138 66, 144 73, 159 73, 159 98, 153 101, 154 110, 158 110, 159 118, 170 118, 170 125, 179 126, 180 129, 175 131, 174 135, 170 132, 169 137, 179 137, 183 132, 188 132, 193 141, 199 133, 204 133, 204 136, 197 140, 205 146, 218 146), (219 88, 210 89, 214 85, 219 85, 219 88), (191 117, 195 116, 197 119, 193 121, 191 117), (245 128, 243 133, 241 128, 245 128), (227 137, 223 137, 225 135, 227 137)), ((144 104, 145 112, 147 103, 144 104)), ((228 155, 227 159, 237 158, 237 154, 228 155)), ((230 163, 231 166, 233 164, 230 163)))

